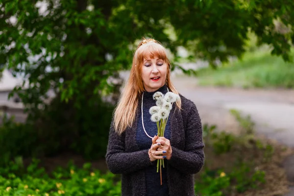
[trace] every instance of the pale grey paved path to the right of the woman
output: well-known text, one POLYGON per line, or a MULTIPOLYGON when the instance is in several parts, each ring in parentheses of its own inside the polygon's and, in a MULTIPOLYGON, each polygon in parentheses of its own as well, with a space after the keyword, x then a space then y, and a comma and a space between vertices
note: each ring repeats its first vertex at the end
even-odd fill
POLYGON ((205 88, 196 86, 193 78, 174 78, 173 81, 181 94, 196 103, 200 115, 239 110, 252 117, 257 134, 294 147, 294 90, 205 88), (201 110, 205 106, 212 110, 201 110))

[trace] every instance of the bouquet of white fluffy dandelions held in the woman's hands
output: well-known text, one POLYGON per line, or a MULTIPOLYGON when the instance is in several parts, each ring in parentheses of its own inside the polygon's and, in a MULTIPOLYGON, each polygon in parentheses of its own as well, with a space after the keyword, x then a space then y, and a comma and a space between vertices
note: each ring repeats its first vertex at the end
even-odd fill
MULTIPOLYGON (((168 92, 163 95, 161 92, 153 94, 153 99, 156 100, 156 106, 152 106, 149 109, 151 114, 151 121, 157 124, 158 137, 164 137, 164 131, 169 119, 170 111, 172 110, 172 103, 180 99, 180 96, 168 92)), ((164 160, 157 160, 157 172, 160 169, 160 184, 162 185, 161 166, 164 167, 164 160)))

